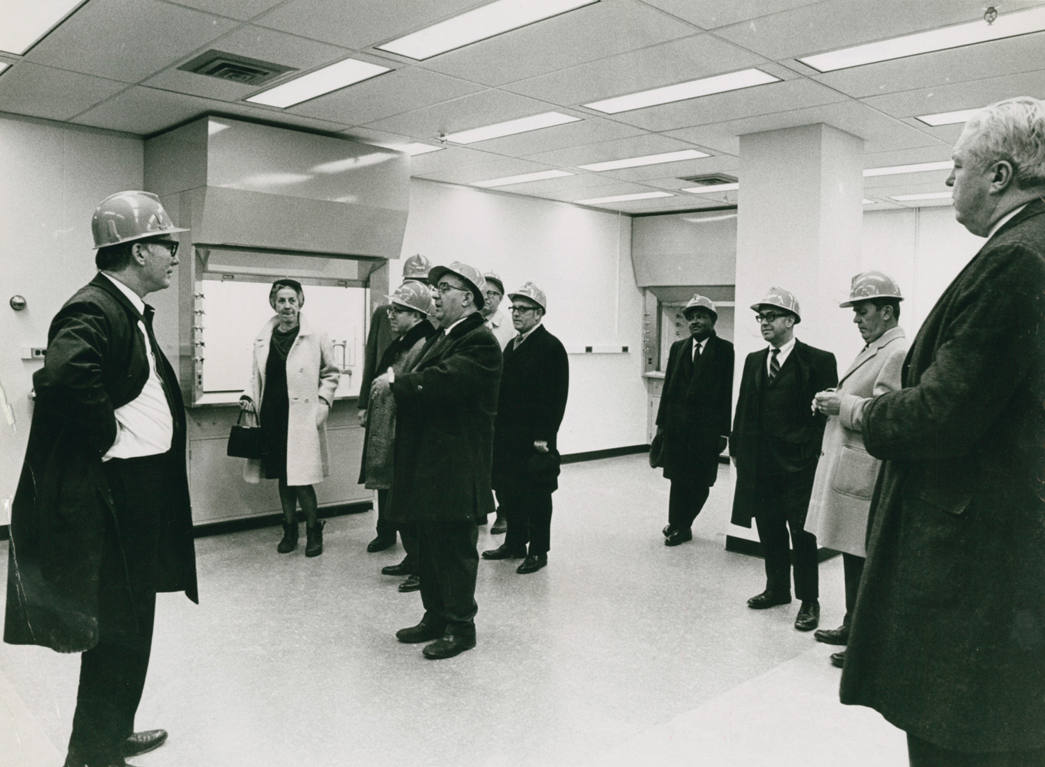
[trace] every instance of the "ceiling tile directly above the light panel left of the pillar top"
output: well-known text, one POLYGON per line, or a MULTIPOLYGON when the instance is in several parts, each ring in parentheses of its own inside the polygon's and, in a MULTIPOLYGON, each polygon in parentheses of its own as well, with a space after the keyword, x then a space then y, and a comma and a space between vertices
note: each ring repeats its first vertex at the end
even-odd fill
POLYGON ((522 79, 504 89, 554 103, 581 104, 746 69, 763 62, 762 56, 711 34, 697 34, 522 79))

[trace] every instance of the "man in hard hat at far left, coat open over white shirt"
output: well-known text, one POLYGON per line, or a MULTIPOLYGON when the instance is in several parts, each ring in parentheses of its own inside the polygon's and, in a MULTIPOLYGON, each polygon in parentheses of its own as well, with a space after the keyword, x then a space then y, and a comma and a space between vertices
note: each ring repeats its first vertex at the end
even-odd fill
POLYGON ((107 197, 99 273, 51 322, 11 506, 4 642, 79 652, 67 767, 124 765, 157 591, 196 597, 185 410, 142 299, 170 285, 175 227, 155 194, 107 197))

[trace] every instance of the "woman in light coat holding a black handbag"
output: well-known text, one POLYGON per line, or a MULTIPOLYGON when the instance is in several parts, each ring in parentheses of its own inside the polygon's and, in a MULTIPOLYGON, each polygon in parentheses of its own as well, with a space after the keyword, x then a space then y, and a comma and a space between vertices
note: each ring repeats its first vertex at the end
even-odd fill
POLYGON ((301 313, 305 294, 296 280, 280 279, 272 285, 269 303, 276 316, 254 340, 251 387, 240 406, 255 412, 261 426, 264 455, 248 459, 243 479, 279 480, 283 507, 283 538, 276 550, 293 552, 298 545, 297 506, 305 513, 305 556, 323 553, 323 525, 317 519, 316 490, 330 473, 327 460, 326 419, 340 380, 333 347, 326 332, 301 313))

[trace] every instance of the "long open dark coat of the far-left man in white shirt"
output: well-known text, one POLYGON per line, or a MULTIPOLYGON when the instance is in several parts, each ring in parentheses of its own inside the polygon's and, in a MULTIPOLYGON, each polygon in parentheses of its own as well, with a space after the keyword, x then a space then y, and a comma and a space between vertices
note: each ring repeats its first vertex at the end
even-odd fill
MULTIPOLYGON (((98 643, 106 517, 115 519, 101 458, 116 441, 116 409, 137 398, 148 378, 141 319, 99 274, 51 322, 44 367, 32 376, 37 401, 11 505, 4 642, 60 652, 98 643)), ((175 422, 170 484, 157 498, 158 590, 185 591, 195 602, 185 410, 173 369, 159 346, 153 351, 175 422)))

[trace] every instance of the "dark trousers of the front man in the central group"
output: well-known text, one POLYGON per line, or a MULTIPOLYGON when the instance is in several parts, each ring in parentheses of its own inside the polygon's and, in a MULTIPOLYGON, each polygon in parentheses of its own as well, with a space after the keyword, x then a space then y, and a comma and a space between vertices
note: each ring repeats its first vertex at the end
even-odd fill
POLYGON ((456 636, 475 635, 475 522, 423 520, 416 524, 418 575, 424 622, 456 636))

